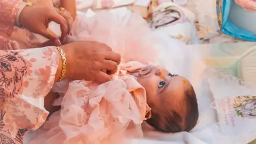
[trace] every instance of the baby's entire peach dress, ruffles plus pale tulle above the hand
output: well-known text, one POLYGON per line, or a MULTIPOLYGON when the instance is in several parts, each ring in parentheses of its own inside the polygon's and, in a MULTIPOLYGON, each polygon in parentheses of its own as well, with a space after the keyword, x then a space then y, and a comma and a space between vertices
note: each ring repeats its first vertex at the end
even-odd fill
POLYGON ((134 73, 142 63, 154 61, 153 42, 145 38, 150 33, 146 21, 132 13, 120 18, 103 12, 93 18, 78 18, 71 32, 77 41, 106 43, 130 62, 122 63, 107 83, 73 81, 55 86, 53 90, 61 98, 54 104, 61 103, 62 108, 50 116, 30 144, 124 144, 130 137, 141 136, 140 126, 150 108, 145 89, 128 71, 134 73))

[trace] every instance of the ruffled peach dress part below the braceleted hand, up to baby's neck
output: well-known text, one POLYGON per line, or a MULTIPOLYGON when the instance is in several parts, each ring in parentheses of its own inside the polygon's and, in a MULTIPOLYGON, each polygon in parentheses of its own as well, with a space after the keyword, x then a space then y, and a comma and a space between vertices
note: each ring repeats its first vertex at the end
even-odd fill
POLYGON ((46 121, 32 143, 129 143, 141 137, 141 123, 150 110, 146 91, 129 73, 143 65, 136 61, 122 63, 110 82, 60 82, 55 91, 65 94, 54 102, 61 110, 46 121), (66 85, 66 86, 64 86, 66 85), (65 92, 65 90, 67 90, 65 92))

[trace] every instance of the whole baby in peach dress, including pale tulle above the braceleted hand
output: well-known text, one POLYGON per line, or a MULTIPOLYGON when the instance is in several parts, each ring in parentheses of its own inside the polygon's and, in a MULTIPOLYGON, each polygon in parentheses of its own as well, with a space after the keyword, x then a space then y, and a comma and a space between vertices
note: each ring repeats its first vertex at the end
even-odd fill
MULTIPOLYGON (((157 63, 156 53, 150 50, 158 41, 142 38, 151 31, 136 14, 126 14, 125 21, 117 18, 113 14, 98 13, 92 19, 83 17, 73 23, 71 37, 74 39, 69 42, 106 43, 121 53, 123 60, 109 82, 56 83, 52 91, 60 97, 55 99, 49 94, 45 103, 61 109, 50 115, 42 127, 44 130, 39 130, 30 144, 126 144, 124 139, 142 134, 144 121, 161 132, 188 132, 195 127, 198 107, 190 82, 163 67, 143 65, 157 63)), ((70 39, 68 36, 66 41, 70 39)))

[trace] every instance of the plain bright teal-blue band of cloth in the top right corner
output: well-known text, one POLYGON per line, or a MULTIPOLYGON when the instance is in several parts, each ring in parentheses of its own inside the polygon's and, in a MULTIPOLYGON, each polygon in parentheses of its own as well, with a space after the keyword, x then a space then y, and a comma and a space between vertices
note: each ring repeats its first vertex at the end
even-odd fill
POLYGON ((222 27, 221 27, 222 33, 232 37, 243 39, 245 41, 256 42, 256 36, 254 33, 239 29, 234 25, 233 22, 229 20, 228 16, 229 16, 230 8, 233 3, 234 3, 234 0, 223 0, 222 2, 222 27))

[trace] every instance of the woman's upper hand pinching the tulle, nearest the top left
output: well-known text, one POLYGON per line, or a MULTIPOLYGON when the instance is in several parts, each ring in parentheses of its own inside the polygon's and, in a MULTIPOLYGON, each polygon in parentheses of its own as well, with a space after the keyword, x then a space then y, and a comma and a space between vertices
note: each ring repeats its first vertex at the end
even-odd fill
MULTIPOLYGON (((62 11, 53 7, 53 5, 37 3, 33 6, 26 6, 20 13, 19 22, 29 31, 40 34, 49 39, 59 39, 51 30, 48 24, 54 21, 60 24, 61 40, 69 33, 73 18, 68 11, 62 11)), ((60 41, 57 45, 60 45, 60 41)))

